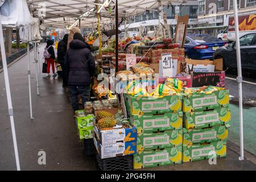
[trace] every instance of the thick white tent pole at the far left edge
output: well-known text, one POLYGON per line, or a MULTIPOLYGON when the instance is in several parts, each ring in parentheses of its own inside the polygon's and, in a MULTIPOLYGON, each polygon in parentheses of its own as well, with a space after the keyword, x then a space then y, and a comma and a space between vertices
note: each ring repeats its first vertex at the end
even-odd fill
POLYGON ((9 109, 10 122, 11 122, 11 133, 13 134, 13 145, 14 145, 14 154, 15 154, 15 160, 16 160, 16 168, 17 168, 17 171, 20 171, 19 153, 18 153, 15 125, 14 125, 14 118, 13 118, 13 104, 11 102, 11 91, 10 91, 9 75, 8 75, 7 62, 6 62, 6 54, 5 54, 5 43, 3 43, 3 29, 2 29, 1 16, 0 16, 0 45, 1 45, 1 52, 2 52, 3 75, 5 76, 6 96, 7 96, 7 103, 8 103, 8 109, 9 109))

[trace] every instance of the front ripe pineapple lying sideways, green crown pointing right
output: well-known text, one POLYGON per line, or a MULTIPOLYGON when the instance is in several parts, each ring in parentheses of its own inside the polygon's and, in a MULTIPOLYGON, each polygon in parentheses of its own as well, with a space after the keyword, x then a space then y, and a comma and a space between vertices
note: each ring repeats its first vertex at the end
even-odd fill
MULTIPOLYGON (((102 113, 103 112, 104 111, 102 111, 102 113)), ((98 120, 98 125, 100 126, 100 128, 114 127, 117 124, 130 127, 129 121, 127 121, 127 119, 123 117, 122 110, 118 110, 117 114, 115 114, 112 117, 102 117, 101 119, 98 120)))

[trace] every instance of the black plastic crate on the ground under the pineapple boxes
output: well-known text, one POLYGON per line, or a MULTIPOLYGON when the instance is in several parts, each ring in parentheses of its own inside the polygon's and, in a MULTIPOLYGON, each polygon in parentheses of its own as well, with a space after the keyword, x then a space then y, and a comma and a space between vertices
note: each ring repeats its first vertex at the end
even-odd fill
POLYGON ((133 155, 117 156, 101 159, 97 154, 97 167, 101 171, 130 171, 133 170, 133 155))

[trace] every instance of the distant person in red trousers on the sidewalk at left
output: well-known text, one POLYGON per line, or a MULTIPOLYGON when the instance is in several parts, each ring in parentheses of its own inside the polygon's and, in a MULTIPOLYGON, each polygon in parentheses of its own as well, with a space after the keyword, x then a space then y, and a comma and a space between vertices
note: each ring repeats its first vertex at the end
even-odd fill
POLYGON ((46 63, 47 63, 47 77, 50 77, 49 75, 49 69, 52 66, 52 74, 53 76, 57 76, 57 74, 55 73, 55 65, 54 65, 54 60, 55 60, 55 52, 54 52, 54 48, 52 47, 53 45, 53 40, 47 40, 47 46, 46 49, 49 52, 49 54, 51 55, 48 59, 46 59, 46 63))

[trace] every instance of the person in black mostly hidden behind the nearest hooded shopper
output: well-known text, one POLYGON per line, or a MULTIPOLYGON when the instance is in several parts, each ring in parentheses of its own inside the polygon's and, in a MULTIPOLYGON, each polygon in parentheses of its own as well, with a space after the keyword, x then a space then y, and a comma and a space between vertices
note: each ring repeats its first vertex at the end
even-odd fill
POLYGON ((58 59, 58 62, 60 63, 60 66, 61 66, 61 69, 62 69, 62 72, 61 72, 61 77, 63 79, 63 87, 67 87, 68 86, 68 82, 67 82, 67 78, 65 77, 65 74, 64 74, 64 57, 65 57, 65 54, 67 52, 67 44, 68 44, 68 34, 65 34, 63 39, 60 40, 59 44, 58 44, 58 47, 57 47, 57 59, 58 59))

